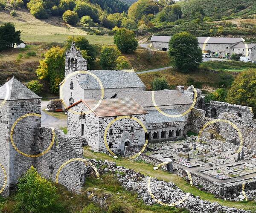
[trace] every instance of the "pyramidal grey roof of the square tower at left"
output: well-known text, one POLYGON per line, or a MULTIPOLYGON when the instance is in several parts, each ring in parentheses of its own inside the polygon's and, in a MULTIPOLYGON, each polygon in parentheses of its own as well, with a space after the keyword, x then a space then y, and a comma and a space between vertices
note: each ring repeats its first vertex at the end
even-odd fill
POLYGON ((15 77, 0 87, 0 99, 12 101, 23 99, 41 98, 28 89, 24 84, 20 83, 15 77))

